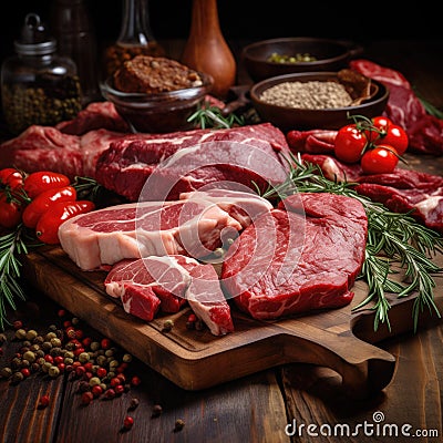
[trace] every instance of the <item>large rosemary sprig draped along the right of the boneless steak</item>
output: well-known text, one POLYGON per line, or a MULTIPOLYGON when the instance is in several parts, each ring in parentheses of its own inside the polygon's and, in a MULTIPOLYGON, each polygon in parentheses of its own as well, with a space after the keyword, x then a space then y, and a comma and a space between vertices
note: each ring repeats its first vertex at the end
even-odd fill
POLYGON ((443 251, 443 237, 416 222, 410 214, 390 212, 384 205, 372 202, 354 190, 354 184, 326 178, 318 165, 303 162, 298 156, 288 158, 289 172, 285 183, 269 187, 262 196, 269 199, 285 198, 293 193, 331 193, 346 195, 358 199, 368 216, 368 239, 365 259, 359 278, 367 281, 369 293, 353 309, 360 309, 373 302, 375 311, 374 329, 380 322, 389 323, 390 302, 387 292, 396 297, 406 297, 418 291, 413 306, 413 323, 416 330, 420 312, 425 307, 430 311, 440 312, 434 302, 433 289, 435 282, 432 274, 441 272, 429 256, 443 251), (395 269, 404 270, 403 282, 390 279, 398 274, 395 269))

